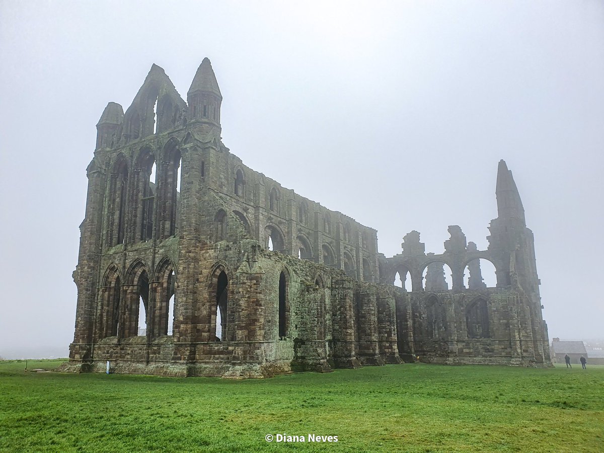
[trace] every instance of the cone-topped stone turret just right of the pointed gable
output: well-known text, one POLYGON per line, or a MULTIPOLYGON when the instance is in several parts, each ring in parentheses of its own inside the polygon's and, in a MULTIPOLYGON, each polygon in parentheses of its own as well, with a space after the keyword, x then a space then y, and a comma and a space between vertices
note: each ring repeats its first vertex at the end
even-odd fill
POLYGON ((190 121, 220 126, 220 104, 222 94, 210 60, 204 58, 197 69, 191 88, 187 93, 190 121))

